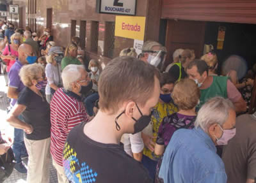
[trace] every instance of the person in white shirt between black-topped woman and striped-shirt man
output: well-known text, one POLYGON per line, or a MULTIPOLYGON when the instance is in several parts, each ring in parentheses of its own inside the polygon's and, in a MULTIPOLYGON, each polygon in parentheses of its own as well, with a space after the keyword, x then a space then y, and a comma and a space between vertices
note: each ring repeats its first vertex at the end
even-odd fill
POLYGON ((45 75, 47 77, 47 85, 45 87, 45 96, 48 103, 51 102, 52 95, 58 90, 60 85, 58 65, 54 57, 54 54, 46 57, 45 75))

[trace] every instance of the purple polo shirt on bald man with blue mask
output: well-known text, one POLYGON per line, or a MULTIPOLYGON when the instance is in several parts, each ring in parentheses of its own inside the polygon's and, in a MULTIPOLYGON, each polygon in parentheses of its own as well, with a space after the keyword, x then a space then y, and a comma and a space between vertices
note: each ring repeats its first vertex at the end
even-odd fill
MULTIPOLYGON (((8 73, 8 78, 9 78, 8 87, 13 87, 13 88, 17 89, 17 92, 22 91, 22 89, 25 87, 24 84, 22 84, 22 82, 20 80, 20 76, 19 76, 21 67, 22 67, 22 64, 17 59, 8 73)), ((17 101, 17 99, 12 98, 11 106, 14 106, 16 101, 17 101)))

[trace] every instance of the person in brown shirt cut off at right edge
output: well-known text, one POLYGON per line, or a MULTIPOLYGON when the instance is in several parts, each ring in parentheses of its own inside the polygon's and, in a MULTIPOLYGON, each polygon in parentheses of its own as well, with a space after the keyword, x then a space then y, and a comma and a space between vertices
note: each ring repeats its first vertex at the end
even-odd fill
POLYGON ((254 183, 256 177, 256 112, 236 118, 236 136, 223 149, 227 183, 254 183))

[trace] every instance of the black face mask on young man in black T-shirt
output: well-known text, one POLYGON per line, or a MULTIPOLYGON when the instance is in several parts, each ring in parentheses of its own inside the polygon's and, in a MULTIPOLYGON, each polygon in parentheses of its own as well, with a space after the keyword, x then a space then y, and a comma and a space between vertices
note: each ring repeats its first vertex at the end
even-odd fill
MULTIPOLYGON (((136 104, 136 103, 135 103, 135 104, 136 104)), ((146 127, 148 126, 149 122, 150 122, 151 114, 152 114, 152 113, 150 113, 150 115, 143 115, 142 112, 141 112, 141 110, 140 110, 140 108, 138 107, 137 104, 136 104, 136 106, 137 106, 137 108, 138 108, 138 110, 139 110, 139 112, 140 112, 140 114, 141 114, 141 117, 140 117, 140 119, 138 119, 138 120, 136 120, 134 117, 132 117, 132 119, 135 121, 135 123, 134 123, 134 133, 132 133, 132 134, 138 133, 138 132, 142 131, 144 128, 146 128, 146 127)), ((124 112, 125 112, 125 111, 124 111, 124 112)), ((116 130, 117 130, 117 131, 120 131, 120 129, 121 129, 120 126, 119 126, 119 124, 117 123, 117 120, 118 120, 118 118, 119 118, 124 112, 120 113, 120 115, 118 115, 118 116, 116 117, 116 119, 115 119, 116 130)))

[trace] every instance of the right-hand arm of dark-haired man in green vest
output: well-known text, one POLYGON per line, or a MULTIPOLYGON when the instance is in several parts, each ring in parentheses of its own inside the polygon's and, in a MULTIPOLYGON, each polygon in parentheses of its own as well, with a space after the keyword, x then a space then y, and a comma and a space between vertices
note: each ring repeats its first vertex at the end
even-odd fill
POLYGON ((227 80, 227 96, 234 104, 237 113, 246 111, 246 102, 241 96, 241 93, 237 90, 236 86, 232 84, 230 80, 227 80))

